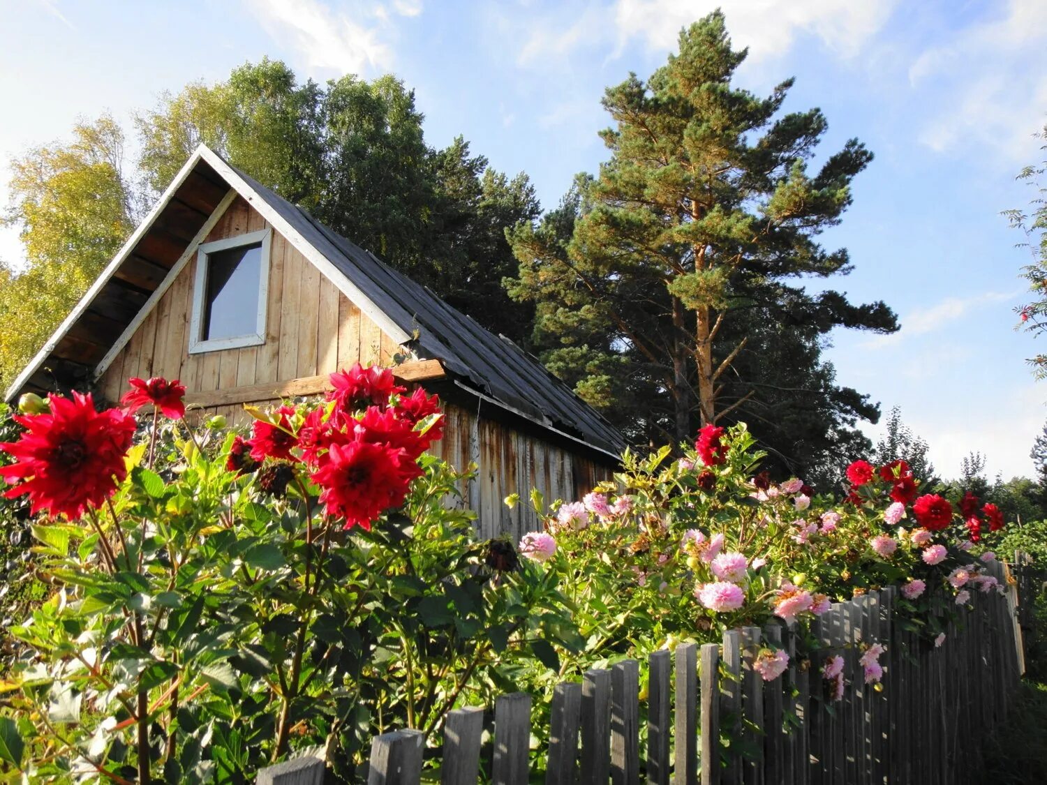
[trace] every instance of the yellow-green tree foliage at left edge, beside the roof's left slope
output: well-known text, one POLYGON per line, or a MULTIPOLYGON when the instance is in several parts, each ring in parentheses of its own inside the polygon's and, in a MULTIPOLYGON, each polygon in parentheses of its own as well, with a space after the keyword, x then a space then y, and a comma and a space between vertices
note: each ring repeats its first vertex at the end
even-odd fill
POLYGON ((27 267, 0 260, 0 387, 14 381, 122 244, 135 216, 124 132, 109 115, 12 163, 10 205, 27 267))

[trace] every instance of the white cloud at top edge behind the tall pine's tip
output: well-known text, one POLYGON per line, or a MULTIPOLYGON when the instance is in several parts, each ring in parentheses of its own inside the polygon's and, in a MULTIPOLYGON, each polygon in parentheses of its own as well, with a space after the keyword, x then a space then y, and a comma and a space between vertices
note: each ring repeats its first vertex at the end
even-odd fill
POLYGON ((884 26, 895 0, 617 0, 620 45, 641 38, 648 48, 673 50, 680 29, 723 7, 735 46, 758 63, 787 53, 799 36, 814 36, 839 57, 856 54, 884 26))

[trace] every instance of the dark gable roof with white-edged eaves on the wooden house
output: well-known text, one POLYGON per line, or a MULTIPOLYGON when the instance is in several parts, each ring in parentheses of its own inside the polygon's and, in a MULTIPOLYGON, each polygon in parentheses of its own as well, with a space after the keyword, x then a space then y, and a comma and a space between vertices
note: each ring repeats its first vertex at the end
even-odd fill
POLYGON ((440 360, 459 387, 608 455, 624 446, 618 429, 535 357, 204 145, 15 380, 7 400, 101 376, 206 237, 217 208, 238 194, 391 338, 422 359, 440 360))

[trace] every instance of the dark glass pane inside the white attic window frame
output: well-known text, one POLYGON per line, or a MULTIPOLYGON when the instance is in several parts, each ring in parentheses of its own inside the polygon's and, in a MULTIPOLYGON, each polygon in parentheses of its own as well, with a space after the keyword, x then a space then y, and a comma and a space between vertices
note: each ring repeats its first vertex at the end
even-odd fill
POLYGON ((262 244, 207 254, 203 340, 235 338, 258 332, 262 244))

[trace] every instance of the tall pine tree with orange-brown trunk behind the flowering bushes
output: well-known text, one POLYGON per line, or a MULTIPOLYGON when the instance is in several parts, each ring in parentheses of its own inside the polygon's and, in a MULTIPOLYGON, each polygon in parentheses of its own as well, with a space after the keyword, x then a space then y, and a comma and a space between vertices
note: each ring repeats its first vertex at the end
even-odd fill
POLYGON ((744 58, 717 12, 649 80, 608 88, 610 160, 512 230, 519 272, 507 283, 535 304, 549 366, 634 444, 747 420, 761 436, 766 426, 776 473, 827 472, 841 447, 865 447, 854 423, 878 410, 836 385, 824 336, 897 329, 882 302, 810 291, 850 270, 818 236, 872 156, 850 140, 808 173, 825 118, 781 112, 789 81, 767 97, 734 86, 744 58))

